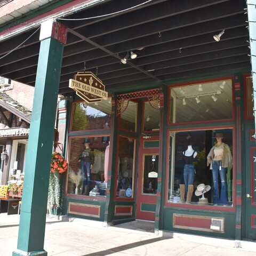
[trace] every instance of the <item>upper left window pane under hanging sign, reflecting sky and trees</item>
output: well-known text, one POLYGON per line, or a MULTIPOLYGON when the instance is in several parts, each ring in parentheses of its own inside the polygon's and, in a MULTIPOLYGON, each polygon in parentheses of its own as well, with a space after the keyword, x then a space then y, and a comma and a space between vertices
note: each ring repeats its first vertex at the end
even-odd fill
POLYGON ((110 129, 111 100, 73 104, 73 122, 71 131, 110 129))

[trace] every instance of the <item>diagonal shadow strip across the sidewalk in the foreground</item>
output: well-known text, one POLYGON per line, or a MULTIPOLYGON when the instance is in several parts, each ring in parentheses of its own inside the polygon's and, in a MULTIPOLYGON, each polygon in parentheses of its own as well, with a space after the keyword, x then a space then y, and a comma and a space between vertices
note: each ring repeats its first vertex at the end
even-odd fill
POLYGON ((98 251, 98 252, 94 252, 94 253, 89 253, 89 254, 84 254, 82 256, 104 256, 104 255, 110 255, 113 253, 117 253, 117 252, 122 252, 125 250, 129 250, 138 246, 142 246, 142 245, 146 245, 146 244, 150 244, 150 243, 155 243, 161 240, 165 240, 165 239, 170 239, 167 237, 156 237, 156 238, 151 238, 148 240, 143 240, 143 241, 139 241, 139 242, 135 242, 135 243, 131 243, 131 244, 125 244, 125 245, 121 245, 121 246, 117 246, 114 248, 110 248, 108 250, 104 250, 104 251, 98 251))

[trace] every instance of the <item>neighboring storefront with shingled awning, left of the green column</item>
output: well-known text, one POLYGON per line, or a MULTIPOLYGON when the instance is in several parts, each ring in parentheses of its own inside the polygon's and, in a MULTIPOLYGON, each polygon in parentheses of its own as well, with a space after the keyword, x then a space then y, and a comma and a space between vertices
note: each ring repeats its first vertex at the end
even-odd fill
POLYGON ((1 184, 23 182, 31 110, 0 92, 1 184))

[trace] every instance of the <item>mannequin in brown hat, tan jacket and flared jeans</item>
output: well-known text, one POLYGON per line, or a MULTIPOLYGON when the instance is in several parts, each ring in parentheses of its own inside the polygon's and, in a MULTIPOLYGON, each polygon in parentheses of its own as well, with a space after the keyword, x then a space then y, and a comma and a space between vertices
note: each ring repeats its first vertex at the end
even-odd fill
POLYGON ((216 133, 217 143, 211 148, 207 156, 207 166, 210 164, 213 179, 213 204, 227 205, 227 167, 232 166, 232 156, 230 148, 222 142, 225 138, 222 133, 216 133), (219 191, 219 175, 221 180, 221 190, 219 191))

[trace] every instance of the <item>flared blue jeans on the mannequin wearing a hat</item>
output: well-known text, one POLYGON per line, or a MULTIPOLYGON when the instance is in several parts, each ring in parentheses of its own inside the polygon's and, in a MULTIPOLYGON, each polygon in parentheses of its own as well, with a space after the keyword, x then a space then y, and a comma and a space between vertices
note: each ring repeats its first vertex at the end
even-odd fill
POLYGON ((222 161, 212 161, 213 204, 228 204, 226 167, 221 167, 222 161), (219 191, 219 174, 221 191, 219 191))

